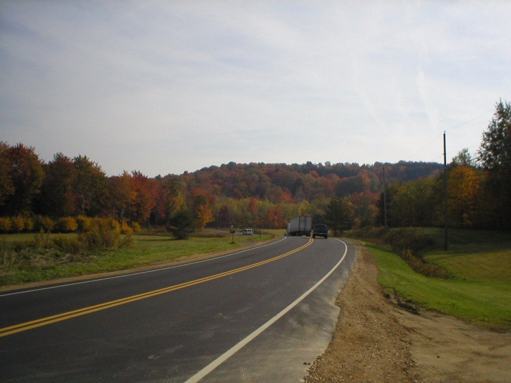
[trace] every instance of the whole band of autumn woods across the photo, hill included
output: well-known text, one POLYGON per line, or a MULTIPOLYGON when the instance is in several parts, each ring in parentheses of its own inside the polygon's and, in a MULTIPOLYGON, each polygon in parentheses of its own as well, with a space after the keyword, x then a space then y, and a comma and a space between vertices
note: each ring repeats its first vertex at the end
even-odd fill
MULTIPOLYGON (((477 157, 463 150, 450 163, 451 226, 511 227, 510 115, 509 103, 497 103, 477 157)), ((307 214, 344 230, 383 224, 386 186, 390 226, 437 226, 444 222, 443 177, 439 163, 410 161, 229 162, 181 175, 124 171, 108 177, 85 155, 57 153, 45 162, 35 148, 0 141, 0 217, 103 217, 146 227, 188 221, 200 230, 284 228, 307 214)))

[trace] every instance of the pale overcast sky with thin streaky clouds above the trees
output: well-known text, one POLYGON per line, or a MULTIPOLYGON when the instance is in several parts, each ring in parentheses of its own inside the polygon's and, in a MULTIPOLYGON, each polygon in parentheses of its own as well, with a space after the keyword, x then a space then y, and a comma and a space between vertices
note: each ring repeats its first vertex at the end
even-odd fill
POLYGON ((442 162, 511 101, 511 2, 2 1, 0 140, 107 175, 442 162))

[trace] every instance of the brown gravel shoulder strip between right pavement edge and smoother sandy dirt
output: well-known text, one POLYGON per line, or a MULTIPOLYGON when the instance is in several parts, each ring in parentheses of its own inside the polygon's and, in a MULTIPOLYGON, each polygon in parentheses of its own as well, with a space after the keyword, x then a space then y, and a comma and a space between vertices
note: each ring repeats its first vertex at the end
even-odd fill
POLYGON ((382 295, 373 256, 356 248, 356 265, 337 298, 341 312, 332 341, 305 381, 413 382, 407 331, 382 295))

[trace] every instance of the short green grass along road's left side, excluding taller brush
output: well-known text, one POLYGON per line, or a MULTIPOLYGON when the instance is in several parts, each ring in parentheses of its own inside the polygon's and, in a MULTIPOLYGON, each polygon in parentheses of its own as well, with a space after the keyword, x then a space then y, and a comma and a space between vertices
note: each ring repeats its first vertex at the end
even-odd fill
MULTIPOLYGON (((58 234, 50 234, 50 238, 56 235, 58 234)), ((27 241, 33 237, 34 234, 3 234, 0 235, 0 241, 27 241)), ((171 236, 133 235, 132 238, 133 245, 129 248, 98 251, 71 261, 49 257, 50 260, 37 259, 34 262, 24 262, 18 267, 1 266, 0 285, 91 275, 188 259, 195 255, 236 250, 260 240, 270 240, 273 235, 263 233, 261 238, 259 234, 235 235, 234 244, 231 243, 231 235, 196 236, 181 241, 176 241, 171 236)))

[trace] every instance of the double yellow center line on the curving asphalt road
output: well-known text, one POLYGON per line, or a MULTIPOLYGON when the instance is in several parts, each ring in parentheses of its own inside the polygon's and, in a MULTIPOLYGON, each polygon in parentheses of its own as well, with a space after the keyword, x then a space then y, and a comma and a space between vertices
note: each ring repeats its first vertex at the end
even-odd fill
POLYGON ((251 264, 251 265, 248 265, 248 266, 240 267, 238 269, 225 271, 223 273, 211 275, 211 276, 204 277, 204 278, 195 279, 195 280, 192 280, 192 281, 189 281, 189 282, 175 284, 175 285, 163 288, 163 289, 153 290, 153 291, 149 291, 149 292, 143 293, 143 294, 132 295, 132 296, 126 297, 126 298, 116 299, 116 300, 113 300, 113 301, 97 304, 97 305, 94 305, 94 306, 88 306, 88 307, 80 308, 80 309, 77 309, 77 310, 68 311, 66 313, 52 315, 50 317, 36 319, 36 320, 30 321, 30 322, 25 322, 25 323, 16 324, 16 325, 9 326, 9 327, 0 328, 0 338, 1 337, 6 337, 6 336, 11 335, 11 334, 15 334, 16 332, 26 331, 26 330, 30 330, 32 328, 41 327, 41 326, 45 326, 45 325, 48 325, 48 324, 65 321, 67 319, 71 319, 71 318, 75 318, 75 317, 80 317, 82 315, 87 315, 87 314, 95 313, 95 312, 100 311, 100 310, 105 310, 107 308, 111 308, 111 307, 115 307, 115 306, 120 306, 120 305, 123 305, 123 304, 126 304, 126 303, 131 303, 131 302, 135 302, 135 301, 138 301, 138 300, 141 300, 141 299, 146 299, 146 298, 154 297, 154 296, 160 295, 160 294, 170 293, 170 292, 175 291, 175 290, 184 289, 184 288, 187 288, 189 286, 193 286, 194 284, 199 284, 199 283, 207 282, 207 281, 210 281, 210 280, 213 280, 213 279, 218 279, 218 278, 226 277, 228 275, 233 275, 233 274, 236 274, 236 273, 240 273, 242 271, 253 269, 255 267, 259 267, 259 266, 268 264, 269 262, 273 262, 275 260, 287 257, 288 255, 294 254, 294 253, 296 253, 296 252, 298 252, 300 250, 305 249, 306 247, 310 246, 311 244, 312 244, 312 238, 309 238, 309 241, 305 245, 300 246, 300 247, 298 247, 298 248, 296 248, 294 250, 288 251, 287 253, 284 253, 284 254, 281 254, 281 255, 277 255, 276 257, 273 257, 273 258, 269 258, 269 259, 263 260, 261 262, 257 262, 255 264, 251 264))

